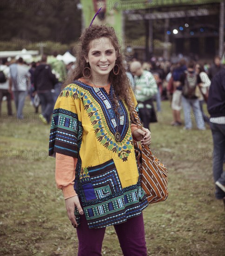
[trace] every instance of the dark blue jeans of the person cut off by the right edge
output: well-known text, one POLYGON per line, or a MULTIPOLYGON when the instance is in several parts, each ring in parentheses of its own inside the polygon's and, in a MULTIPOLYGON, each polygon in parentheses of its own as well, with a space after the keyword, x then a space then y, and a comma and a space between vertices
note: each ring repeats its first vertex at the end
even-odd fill
MULTIPOLYGON (((225 156, 225 124, 210 122, 213 139, 213 177, 215 182, 225 186, 225 171, 223 171, 225 156)), ((216 186, 215 196, 217 199, 223 199, 225 192, 216 186)))

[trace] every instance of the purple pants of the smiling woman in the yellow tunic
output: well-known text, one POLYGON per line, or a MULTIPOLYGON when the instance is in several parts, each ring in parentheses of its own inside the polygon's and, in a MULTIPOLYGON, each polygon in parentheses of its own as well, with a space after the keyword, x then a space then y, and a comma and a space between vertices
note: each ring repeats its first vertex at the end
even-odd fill
MULTIPOLYGON (((114 225, 124 256, 146 256, 146 241, 143 215, 134 216, 114 225)), ((77 228, 78 256, 101 256, 102 241, 106 228, 89 229, 85 215, 80 216, 77 228)))

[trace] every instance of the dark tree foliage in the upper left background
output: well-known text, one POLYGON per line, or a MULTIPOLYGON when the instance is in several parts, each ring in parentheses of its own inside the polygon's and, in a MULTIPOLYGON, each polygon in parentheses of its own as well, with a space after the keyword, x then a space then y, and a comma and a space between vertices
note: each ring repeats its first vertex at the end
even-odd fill
POLYGON ((1 40, 15 38, 68 44, 79 38, 79 0, 1 0, 1 40))

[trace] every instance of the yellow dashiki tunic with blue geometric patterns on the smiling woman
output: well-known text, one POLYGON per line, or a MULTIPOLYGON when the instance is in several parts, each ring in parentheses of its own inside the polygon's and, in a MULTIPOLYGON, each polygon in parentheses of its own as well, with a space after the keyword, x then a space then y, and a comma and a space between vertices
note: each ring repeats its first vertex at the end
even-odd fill
POLYGON ((125 222, 148 205, 139 183, 130 116, 123 100, 118 111, 119 118, 112 86, 108 94, 103 87, 79 80, 63 89, 53 111, 49 155, 57 152, 78 158, 74 189, 89 228, 125 222), (119 141, 114 136, 117 131, 119 141))

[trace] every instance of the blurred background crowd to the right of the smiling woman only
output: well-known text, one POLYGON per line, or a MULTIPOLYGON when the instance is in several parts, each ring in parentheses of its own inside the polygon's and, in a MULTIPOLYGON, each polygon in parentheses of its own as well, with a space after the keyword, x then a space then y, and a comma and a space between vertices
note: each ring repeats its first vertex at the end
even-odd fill
POLYGON ((127 74, 139 102, 139 115, 144 127, 149 128, 150 123, 157 121, 156 112, 161 111, 161 100, 169 99, 172 126, 182 126, 184 122, 184 129, 190 130, 194 119, 197 128, 205 130, 205 123, 209 124, 209 115, 204 112, 204 104, 207 102, 212 78, 222 69, 224 65, 219 56, 215 56, 212 65, 191 59, 171 63, 153 58, 152 62, 144 62, 142 65, 133 60, 127 74), (156 108, 153 101, 156 101, 156 108), (184 121, 180 115, 182 108, 184 121))

